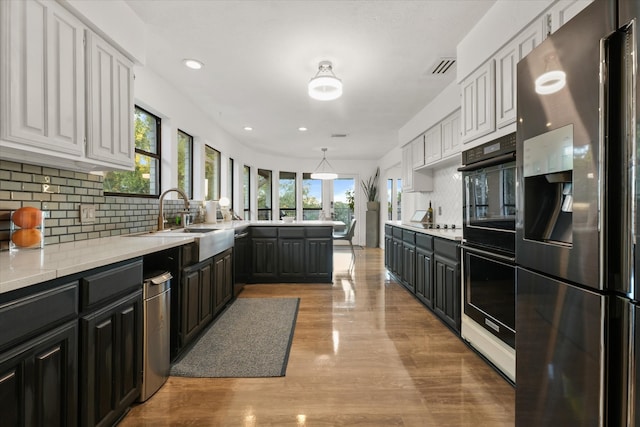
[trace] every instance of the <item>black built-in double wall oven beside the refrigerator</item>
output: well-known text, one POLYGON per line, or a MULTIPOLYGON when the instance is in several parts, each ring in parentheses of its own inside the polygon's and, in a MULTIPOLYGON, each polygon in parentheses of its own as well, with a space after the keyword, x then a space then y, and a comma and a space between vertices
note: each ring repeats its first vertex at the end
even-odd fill
POLYGON ((462 153, 464 313, 515 348, 515 133, 462 153))

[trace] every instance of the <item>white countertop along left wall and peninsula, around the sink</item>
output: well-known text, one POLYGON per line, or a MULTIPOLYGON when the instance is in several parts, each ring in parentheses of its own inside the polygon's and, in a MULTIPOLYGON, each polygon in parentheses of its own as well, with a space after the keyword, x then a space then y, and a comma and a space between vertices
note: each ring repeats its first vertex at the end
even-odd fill
MULTIPOLYGON (((193 224, 190 228, 221 230, 258 226, 334 226, 340 221, 231 221, 193 224)), ((0 253, 0 294, 26 286, 80 273, 96 267, 136 258, 194 241, 185 233, 170 236, 139 233, 103 237, 78 242, 45 245, 42 249, 22 249, 0 253), (144 234, 144 236, 143 236, 144 234)))

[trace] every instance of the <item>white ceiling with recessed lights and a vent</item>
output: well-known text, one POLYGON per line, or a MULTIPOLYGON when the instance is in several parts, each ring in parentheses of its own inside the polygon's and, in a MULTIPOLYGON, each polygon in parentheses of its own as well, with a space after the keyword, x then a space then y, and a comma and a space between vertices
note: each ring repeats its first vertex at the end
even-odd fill
POLYGON ((148 24, 146 66, 253 150, 318 158, 327 147, 330 159, 376 160, 455 79, 455 67, 444 76, 431 67, 455 57, 495 0, 127 2, 148 24), (205 67, 187 69, 184 58, 205 67), (307 95, 321 60, 343 81, 338 100, 307 95))

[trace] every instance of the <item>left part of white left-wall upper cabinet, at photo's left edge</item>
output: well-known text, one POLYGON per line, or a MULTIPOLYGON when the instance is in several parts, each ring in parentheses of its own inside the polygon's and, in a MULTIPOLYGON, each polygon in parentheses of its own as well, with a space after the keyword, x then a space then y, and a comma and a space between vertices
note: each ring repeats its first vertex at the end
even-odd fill
POLYGON ((84 26, 51 1, 2 1, 0 18, 3 151, 82 156, 84 26))

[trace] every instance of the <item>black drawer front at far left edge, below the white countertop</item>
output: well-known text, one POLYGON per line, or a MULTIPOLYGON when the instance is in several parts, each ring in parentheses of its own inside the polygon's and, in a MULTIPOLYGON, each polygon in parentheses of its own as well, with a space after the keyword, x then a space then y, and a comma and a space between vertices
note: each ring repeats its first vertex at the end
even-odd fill
POLYGON ((0 305, 0 348, 78 315, 78 282, 0 305))

